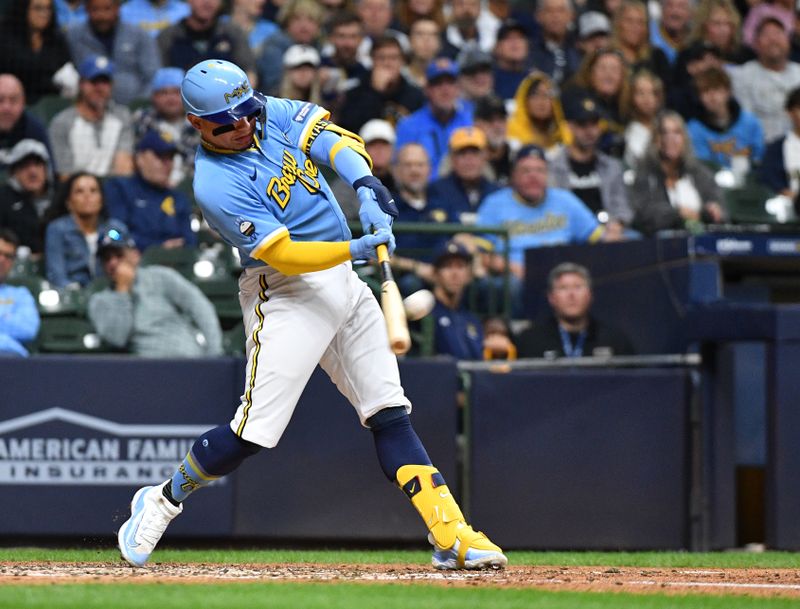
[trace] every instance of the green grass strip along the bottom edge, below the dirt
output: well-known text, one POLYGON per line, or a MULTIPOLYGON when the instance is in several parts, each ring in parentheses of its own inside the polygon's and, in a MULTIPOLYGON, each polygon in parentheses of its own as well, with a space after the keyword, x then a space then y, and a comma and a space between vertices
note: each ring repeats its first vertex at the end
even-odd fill
POLYGON ((60 585, 0 588, 3 609, 783 609, 796 601, 445 588, 427 585, 60 585))

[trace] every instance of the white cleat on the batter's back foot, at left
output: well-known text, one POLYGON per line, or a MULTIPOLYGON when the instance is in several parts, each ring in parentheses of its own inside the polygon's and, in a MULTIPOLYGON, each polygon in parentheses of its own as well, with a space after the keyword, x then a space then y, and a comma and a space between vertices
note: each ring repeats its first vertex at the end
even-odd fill
POLYGON ((183 511, 182 505, 176 507, 164 497, 164 486, 170 483, 142 487, 131 500, 131 517, 120 527, 117 540, 122 558, 134 567, 144 566, 167 525, 183 511))

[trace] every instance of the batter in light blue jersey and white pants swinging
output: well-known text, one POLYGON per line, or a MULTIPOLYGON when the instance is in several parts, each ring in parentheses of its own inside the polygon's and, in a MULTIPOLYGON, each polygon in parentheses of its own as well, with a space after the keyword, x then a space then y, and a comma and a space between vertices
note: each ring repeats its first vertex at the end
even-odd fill
POLYGON ((324 108, 253 91, 227 61, 191 68, 181 95, 202 136, 195 197, 243 261, 246 378, 230 423, 198 438, 171 479, 136 491, 119 530, 122 557, 143 566, 189 495, 274 447, 319 363, 372 432, 386 477, 430 530, 433 566, 504 567, 502 550, 465 522, 417 437, 381 310, 352 269, 352 260, 376 258, 378 245, 394 250, 397 208, 372 175, 363 141, 329 122, 324 108), (319 164, 355 189, 363 237, 351 239, 319 164))

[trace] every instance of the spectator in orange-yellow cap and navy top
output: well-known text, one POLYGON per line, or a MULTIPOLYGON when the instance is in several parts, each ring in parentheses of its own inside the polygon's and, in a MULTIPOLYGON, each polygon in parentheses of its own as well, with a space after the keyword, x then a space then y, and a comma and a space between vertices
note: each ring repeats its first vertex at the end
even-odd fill
POLYGON ((477 127, 459 127, 450 136, 451 171, 431 182, 429 197, 447 211, 448 222, 474 224, 478 206, 497 185, 486 178, 488 142, 477 127))

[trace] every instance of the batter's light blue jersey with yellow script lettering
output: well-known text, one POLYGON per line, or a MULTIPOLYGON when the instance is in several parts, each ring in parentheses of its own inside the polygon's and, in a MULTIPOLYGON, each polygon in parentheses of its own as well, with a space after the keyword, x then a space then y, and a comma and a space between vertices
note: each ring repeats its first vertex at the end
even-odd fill
POLYGON ((347 220, 309 153, 328 117, 316 104, 267 97, 264 140, 236 152, 198 147, 195 198, 209 226, 239 249, 243 266, 264 265, 254 256, 287 231, 293 241, 350 240, 347 220))

